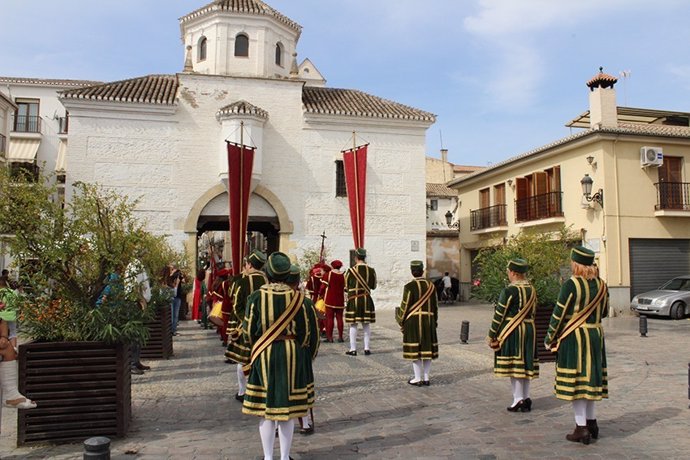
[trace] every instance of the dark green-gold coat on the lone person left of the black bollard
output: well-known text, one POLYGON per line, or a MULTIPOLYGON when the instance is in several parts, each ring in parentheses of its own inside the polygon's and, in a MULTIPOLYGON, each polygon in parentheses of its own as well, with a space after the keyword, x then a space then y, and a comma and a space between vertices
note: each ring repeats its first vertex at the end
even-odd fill
POLYGON ((438 304, 431 281, 420 277, 405 285, 395 320, 403 333, 404 359, 438 358, 438 304))

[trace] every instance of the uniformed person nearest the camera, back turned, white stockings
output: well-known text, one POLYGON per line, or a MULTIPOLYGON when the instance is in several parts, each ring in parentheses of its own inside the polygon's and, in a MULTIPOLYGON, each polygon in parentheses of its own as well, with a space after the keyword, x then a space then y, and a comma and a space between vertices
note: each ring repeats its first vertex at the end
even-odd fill
POLYGON ((242 412, 262 417, 259 434, 264 458, 272 458, 278 426, 281 458, 288 458, 295 419, 313 404, 312 353, 319 335, 304 293, 285 284, 290 258, 274 252, 266 262, 268 284, 247 298, 242 330, 251 347, 242 412), (311 401, 310 401, 311 399, 311 401))

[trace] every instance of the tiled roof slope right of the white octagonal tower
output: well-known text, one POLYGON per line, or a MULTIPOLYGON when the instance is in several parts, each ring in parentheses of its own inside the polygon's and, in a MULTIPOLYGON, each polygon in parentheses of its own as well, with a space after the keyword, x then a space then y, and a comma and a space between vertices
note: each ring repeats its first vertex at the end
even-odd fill
POLYGON ((305 86, 302 102, 306 113, 368 118, 436 121, 436 115, 362 91, 305 86))

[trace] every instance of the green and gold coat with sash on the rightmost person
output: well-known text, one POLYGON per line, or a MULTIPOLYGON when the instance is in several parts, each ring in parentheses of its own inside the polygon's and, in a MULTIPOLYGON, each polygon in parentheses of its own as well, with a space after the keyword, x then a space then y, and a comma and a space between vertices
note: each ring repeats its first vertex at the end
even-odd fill
POLYGON ((573 316, 585 310, 599 290, 605 288, 599 278, 587 280, 580 276, 571 277, 561 287, 544 340, 547 345, 560 340, 555 383, 558 399, 598 401, 608 398, 606 347, 601 328, 601 318, 608 312, 608 294, 596 302, 579 327, 562 337, 573 316))

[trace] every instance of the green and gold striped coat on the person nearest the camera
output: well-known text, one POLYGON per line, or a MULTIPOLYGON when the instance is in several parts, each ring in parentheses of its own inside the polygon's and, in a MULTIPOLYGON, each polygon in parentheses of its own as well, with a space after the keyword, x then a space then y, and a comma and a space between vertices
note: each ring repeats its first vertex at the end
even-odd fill
MULTIPOLYGON (((249 296, 243 330, 250 347, 270 331, 294 296, 303 294, 280 283, 265 284, 249 296)), ((252 363, 242 407, 245 414, 286 421, 304 417, 314 403, 314 379, 309 374, 318 351, 316 318, 307 302, 296 308, 294 318, 281 325, 279 335, 252 363)))

